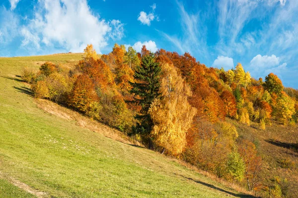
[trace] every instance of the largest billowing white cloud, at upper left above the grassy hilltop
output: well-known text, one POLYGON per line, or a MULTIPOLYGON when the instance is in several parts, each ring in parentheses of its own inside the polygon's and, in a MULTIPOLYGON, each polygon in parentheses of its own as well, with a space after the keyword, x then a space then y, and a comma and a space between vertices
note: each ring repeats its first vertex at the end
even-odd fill
POLYGON ((119 20, 105 21, 91 12, 86 0, 39 0, 34 18, 21 29, 22 46, 41 44, 81 52, 87 44, 100 49, 123 37, 119 20))

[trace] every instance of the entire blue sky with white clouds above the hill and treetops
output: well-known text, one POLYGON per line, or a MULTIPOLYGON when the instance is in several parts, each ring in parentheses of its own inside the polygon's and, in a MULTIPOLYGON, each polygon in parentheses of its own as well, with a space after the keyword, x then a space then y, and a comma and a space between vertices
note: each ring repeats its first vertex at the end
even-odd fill
POLYGON ((81 52, 92 43, 190 52, 207 66, 241 62, 298 89, 298 0, 0 0, 0 56, 81 52))

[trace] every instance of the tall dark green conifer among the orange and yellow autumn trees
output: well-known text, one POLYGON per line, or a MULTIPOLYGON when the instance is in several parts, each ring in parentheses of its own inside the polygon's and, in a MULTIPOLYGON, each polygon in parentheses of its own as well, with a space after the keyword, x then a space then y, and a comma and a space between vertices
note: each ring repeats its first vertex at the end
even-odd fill
POLYGON ((148 110, 152 101, 160 95, 158 93, 160 72, 159 63, 155 62, 154 54, 150 52, 142 57, 141 65, 136 66, 135 83, 131 83, 133 87, 131 93, 135 94, 135 101, 141 106, 140 114, 136 115, 139 123, 134 132, 143 135, 145 139, 148 138, 153 126, 148 110))

